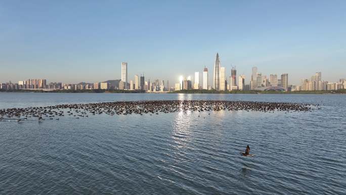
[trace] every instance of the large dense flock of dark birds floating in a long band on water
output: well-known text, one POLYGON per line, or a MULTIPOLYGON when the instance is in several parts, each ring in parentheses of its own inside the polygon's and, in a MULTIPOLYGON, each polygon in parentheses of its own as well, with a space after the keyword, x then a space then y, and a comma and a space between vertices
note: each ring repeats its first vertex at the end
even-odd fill
MULTIPOLYGON (((116 101, 86 104, 61 104, 45 107, 0 109, 0 122, 21 122, 43 120, 60 120, 68 115, 75 119, 89 115, 109 114, 159 114, 169 112, 203 112, 203 111, 312 111, 319 105, 288 102, 253 102, 253 101, 213 101, 213 100, 161 100, 161 101, 116 101)), ((321 109, 318 107, 317 109, 321 109)), ((210 114, 210 112, 208 113, 210 114)), ((199 116, 199 115, 198 115, 199 116)))

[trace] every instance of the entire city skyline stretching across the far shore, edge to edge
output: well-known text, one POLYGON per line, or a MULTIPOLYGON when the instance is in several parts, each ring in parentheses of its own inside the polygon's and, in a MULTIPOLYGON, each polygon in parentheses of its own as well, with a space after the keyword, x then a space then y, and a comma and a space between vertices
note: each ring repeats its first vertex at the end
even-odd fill
POLYGON ((46 79, 29 79, 19 81, 18 83, 3 83, 0 84, 0 89, 5 90, 141 90, 146 92, 166 92, 170 90, 189 90, 189 89, 204 89, 217 91, 232 91, 232 90, 276 90, 276 91, 316 91, 316 90, 339 90, 346 89, 346 80, 340 79, 338 82, 329 83, 322 80, 322 73, 316 72, 311 76, 311 79, 301 80, 301 84, 294 86, 288 85, 288 74, 270 74, 269 76, 258 72, 257 67, 252 67, 251 80, 249 84, 245 84, 245 76, 243 74, 237 77, 236 67, 231 68, 231 75, 227 76, 225 67, 221 67, 220 56, 217 53, 213 67, 212 85, 209 85, 208 68, 204 66, 202 75, 195 72, 194 82, 191 76, 180 77, 179 83, 176 83, 174 88, 169 88, 168 81, 155 79, 150 82, 150 79, 145 81, 144 74, 136 74, 134 80, 128 81, 127 77, 127 62, 121 62, 121 80, 108 80, 97 83, 79 83, 79 84, 62 84, 49 83, 46 79), (201 81, 201 83, 200 83, 201 81))

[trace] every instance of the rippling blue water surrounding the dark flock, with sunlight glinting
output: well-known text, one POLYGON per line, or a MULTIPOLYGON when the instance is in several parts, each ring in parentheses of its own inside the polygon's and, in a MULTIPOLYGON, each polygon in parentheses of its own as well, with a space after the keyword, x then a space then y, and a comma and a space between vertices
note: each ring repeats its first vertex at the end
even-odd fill
POLYGON ((0 93, 0 109, 176 99, 321 109, 0 122, 0 193, 345 194, 345 95, 0 93), (255 157, 239 154, 247 144, 255 157))

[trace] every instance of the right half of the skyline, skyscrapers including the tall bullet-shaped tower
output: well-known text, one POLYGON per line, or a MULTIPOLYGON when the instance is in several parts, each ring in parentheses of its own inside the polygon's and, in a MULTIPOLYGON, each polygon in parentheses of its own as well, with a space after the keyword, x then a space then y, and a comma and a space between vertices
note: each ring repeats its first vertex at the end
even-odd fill
POLYGON ((231 75, 227 79, 227 71, 225 67, 221 67, 220 56, 217 53, 213 68, 213 83, 209 85, 208 69, 204 67, 202 84, 199 84, 199 72, 195 72, 194 84, 192 85, 191 76, 187 78, 180 77, 179 83, 175 84, 175 90, 189 89, 205 89, 217 91, 232 90, 275 90, 275 91, 315 91, 315 90, 339 90, 346 89, 345 79, 339 82, 329 83, 322 81, 321 72, 311 77, 311 80, 302 80, 300 86, 288 85, 288 73, 270 74, 269 76, 258 72, 257 67, 252 67, 251 80, 249 84, 245 84, 245 76, 237 77, 235 66, 231 68, 231 75))

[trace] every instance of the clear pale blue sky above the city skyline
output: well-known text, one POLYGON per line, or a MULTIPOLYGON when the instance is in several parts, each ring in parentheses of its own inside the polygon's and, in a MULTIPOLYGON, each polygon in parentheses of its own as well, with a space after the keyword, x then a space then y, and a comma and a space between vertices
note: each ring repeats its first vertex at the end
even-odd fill
MULTIPOLYGON (((249 83, 251 67, 346 77, 346 1, 0 1, 0 82, 178 82, 219 52, 249 83)), ((211 81, 211 80, 210 80, 211 81)))

